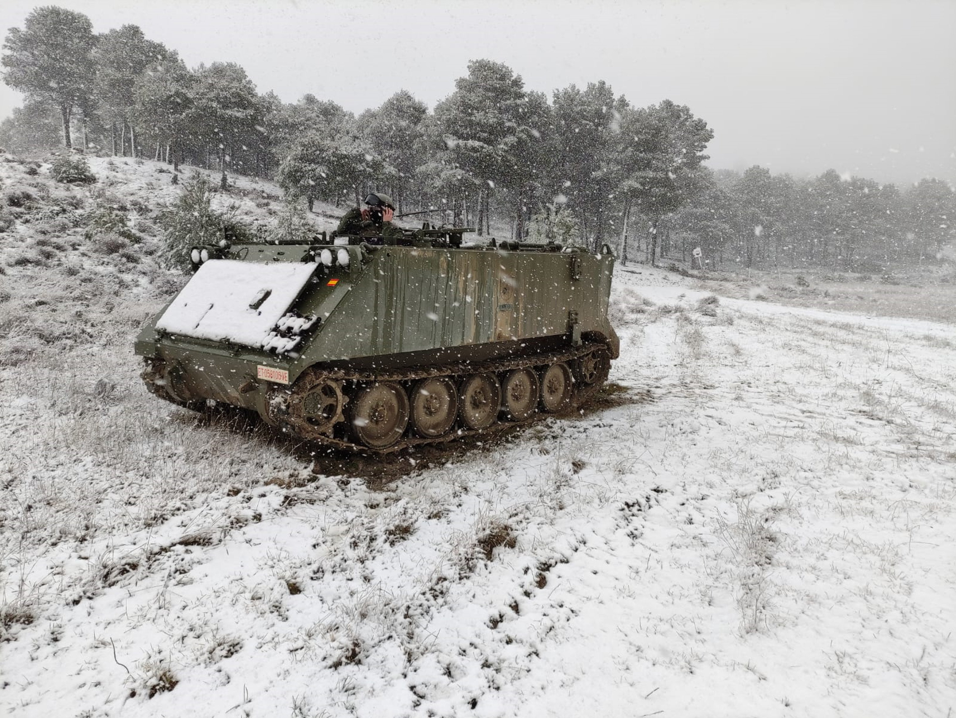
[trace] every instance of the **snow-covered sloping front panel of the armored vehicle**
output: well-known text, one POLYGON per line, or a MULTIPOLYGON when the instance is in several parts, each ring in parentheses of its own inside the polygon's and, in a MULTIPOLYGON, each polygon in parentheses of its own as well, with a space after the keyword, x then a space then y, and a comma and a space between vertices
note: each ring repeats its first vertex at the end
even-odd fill
POLYGON ((156 322, 184 337, 261 347, 315 272, 314 262, 210 259, 156 322))

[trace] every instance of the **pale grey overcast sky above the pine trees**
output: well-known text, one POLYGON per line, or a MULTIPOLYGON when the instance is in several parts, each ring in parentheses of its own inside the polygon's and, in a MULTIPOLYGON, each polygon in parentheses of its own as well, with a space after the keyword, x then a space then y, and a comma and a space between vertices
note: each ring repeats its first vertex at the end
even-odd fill
MULTIPOLYGON (((2 0, 0 29, 36 0, 2 0)), ((480 57, 551 96, 606 80, 714 130, 710 165, 956 185, 956 0, 61 0, 98 33, 139 25, 187 65, 359 113, 399 89, 433 108, 480 57)), ((0 85, 0 118, 22 98, 0 85)))

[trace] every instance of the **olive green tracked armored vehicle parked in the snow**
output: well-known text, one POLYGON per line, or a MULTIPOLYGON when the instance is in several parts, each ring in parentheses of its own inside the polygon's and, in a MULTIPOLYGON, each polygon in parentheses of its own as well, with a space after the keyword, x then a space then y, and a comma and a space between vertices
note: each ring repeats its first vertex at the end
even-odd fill
POLYGON ((196 247, 137 338, 142 378, 172 403, 373 453, 576 408, 618 357, 611 250, 468 246, 465 231, 196 247))

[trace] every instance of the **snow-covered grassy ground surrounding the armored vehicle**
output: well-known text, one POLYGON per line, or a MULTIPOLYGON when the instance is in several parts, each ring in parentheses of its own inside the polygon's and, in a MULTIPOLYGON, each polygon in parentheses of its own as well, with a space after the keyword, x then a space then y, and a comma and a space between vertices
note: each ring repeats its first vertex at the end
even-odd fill
POLYGON ((0 714, 956 712, 953 325, 619 267, 596 406, 382 487, 149 396, 175 278, 64 231, 0 234, 0 714))

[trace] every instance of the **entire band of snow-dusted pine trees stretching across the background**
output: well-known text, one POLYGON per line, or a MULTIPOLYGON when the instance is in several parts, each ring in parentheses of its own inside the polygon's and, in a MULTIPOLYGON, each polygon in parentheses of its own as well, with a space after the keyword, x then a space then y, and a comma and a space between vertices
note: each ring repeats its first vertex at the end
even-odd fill
POLYGON ((633 106, 603 81, 549 98, 508 66, 473 60, 433 111, 402 90, 355 116, 313 95, 260 95, 235 63, 189 69, 134 25, 96 34, 56 7, 31 12, 3 50, 4 81, 26 99, 0 142, 269 177, 310 208, 387 191, 400 213, 435 207, 479 234, 494 220, 512 237, 608 243, 651 262, 701 247, 712 267, 853 271, 936 256, 954 236, 943 182, 713 172, 706 121, 666 99, 633 106))

